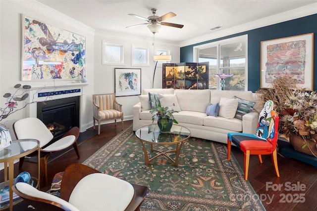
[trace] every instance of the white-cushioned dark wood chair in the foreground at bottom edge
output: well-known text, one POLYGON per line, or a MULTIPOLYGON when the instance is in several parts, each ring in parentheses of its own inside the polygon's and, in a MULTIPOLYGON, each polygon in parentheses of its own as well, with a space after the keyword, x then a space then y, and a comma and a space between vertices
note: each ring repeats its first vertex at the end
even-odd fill
POLYGON ((12 190, 38 211, 139 211, 149 188, 130 184, 82 164, 68 166, 60 186, 60 198, 27 183, 12 190))

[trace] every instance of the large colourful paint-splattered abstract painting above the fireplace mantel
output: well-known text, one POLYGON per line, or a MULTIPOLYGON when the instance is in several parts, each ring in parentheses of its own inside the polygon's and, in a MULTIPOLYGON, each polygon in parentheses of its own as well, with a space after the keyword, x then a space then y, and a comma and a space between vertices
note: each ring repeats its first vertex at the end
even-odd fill
POLYGON ((85 37, 21 17, 22 81, 79 80, 85 76, 85 37))

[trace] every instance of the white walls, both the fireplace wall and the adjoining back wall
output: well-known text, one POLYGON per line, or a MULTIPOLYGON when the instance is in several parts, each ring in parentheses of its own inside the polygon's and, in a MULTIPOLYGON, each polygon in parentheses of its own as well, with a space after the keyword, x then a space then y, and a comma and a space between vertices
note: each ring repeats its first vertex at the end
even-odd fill
MULTIPOLYGON (((50 25, 74 32, 86 37, 86 77, 88 85, 83 87, 85 103, 81 119, 81 131, 91 127, 92 122, 92 94, 114 93, 114 68, 141 68, 141 88, 151 88, 155 63, 153 59, 153 40, 143 37, 116 35, 92 29, 65 14, 59 13, 37 1, 0 0, 0 107, 5 105, 3 94, 13 92, 15 84, 29 84, 31 86, 52 86, 79 83, 79 81, 32 81, 21 82, 21 14, 41 20, 50 25), (123 66, 102 64, 102 41, 124 45, 123 66), (140 45, 149 48, 149 67, 131 66, 131 46, 140 45), (55 84, 54 84, 55 83, 55 84)), ((106 24, 106 23, 105 23, 106 24)), ((151 33, 149 31, 149 33, 151 33)), ((155 41, 156 49, 171 51, 171 63, 178 63, 180 58, 179 44, 165 41, 155 41)), ((154 87, 162 86, 162 68, 157 67, 154 87)), ((138 96, 117 97, 122 104, 124 119, 132 119, 132 106, 139 102, 138 96)), ((2 121, 13 135, 12 123, 28 116, 23 109, 2 121)))

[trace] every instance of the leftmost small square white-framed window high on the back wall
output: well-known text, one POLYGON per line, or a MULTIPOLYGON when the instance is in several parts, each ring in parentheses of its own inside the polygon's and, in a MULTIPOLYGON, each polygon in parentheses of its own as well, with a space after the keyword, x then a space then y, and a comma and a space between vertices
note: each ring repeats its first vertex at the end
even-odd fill
POLYGON ((124 65, 123 45, 112 44, 103 41, 103 64, 124 65))

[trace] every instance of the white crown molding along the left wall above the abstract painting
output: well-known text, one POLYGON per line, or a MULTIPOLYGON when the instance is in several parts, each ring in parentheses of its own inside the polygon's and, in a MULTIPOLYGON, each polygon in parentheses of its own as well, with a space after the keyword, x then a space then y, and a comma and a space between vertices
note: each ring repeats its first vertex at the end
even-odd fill
MULTIPOLYGON (((76 24, 76 29, 79 29, 80 31, 84 31, 85 33, 88 34, 95 34, 95 29, 87 26, 86 24, 83 24, 82 22, 79 22, 76 19, 73 19, 43 3, 40 3, 39 1, 36 0, 9 0, 12 3, 15 3, 19 6, 25 7, 29 10, 35 11, 38 14, 41 14, 46 17, 53 17, 55 21, 59 21, 60 23, 69 25, 69 26, 74 26, 76 24)), ((29 14, 25 14, 28 16, 32 16, 29 14)))

